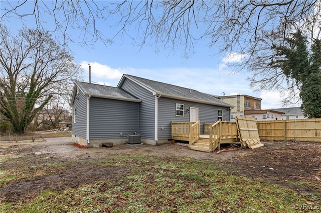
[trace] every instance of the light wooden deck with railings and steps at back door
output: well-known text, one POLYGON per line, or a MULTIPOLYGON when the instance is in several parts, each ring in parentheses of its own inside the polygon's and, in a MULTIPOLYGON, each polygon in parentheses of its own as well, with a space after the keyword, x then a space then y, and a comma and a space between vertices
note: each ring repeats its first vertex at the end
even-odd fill
POLYGON ((205 123, 204 134, 200 134, 200 121, 172 122, 172 139, 189 141, 191 149, 207 152, 220 149, 222 143, 240 141, 236 122, 229 121, 205 123))

